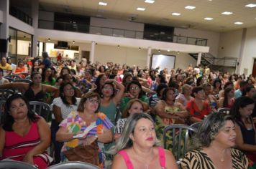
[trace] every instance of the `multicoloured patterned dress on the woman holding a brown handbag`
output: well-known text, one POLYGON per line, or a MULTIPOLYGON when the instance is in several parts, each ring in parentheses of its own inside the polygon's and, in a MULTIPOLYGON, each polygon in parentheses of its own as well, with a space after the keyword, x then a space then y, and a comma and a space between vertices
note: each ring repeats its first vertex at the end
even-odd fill
MULTIPOLYGON (((114 126, 110 122, 108 117, 106 117, 106 115, 104 115, 104 113, 98 112, 98 113, 96 113, 96 115, 98 117, 96 119, 96 126, 97 127, 90 130, 88 132, 88 136, 96 135, 96 134, 101 135, 101 134, 104 133, 104 127, 106 127, 106 129, 110 130, 111 127, 114 126)), ((86 127, 88 127, 89 125, 87 125, 86 122, 83 121, 81 117, 79 117, 77 111, 70 112, 68 117, 65 118, 65 120, 63 120, 60 123, 60 126, 67 128, 68 132, 70 132, 70 133, 76 133, 76 132, 79 132, 79 131, 84 131, 84 130, 86 130, 86 127)), ((61 160, 63 162, 68 161, 68 159, 65 157, 65 155, 63 153, 65 150, 70 150, 70 148, 76 148, 78 145, 81 145, 81 144, 83 144, 83 140, 78 140, 78 139, 74 139, 74 140, 70 140, 68 142, 65 142, 64 145, 63 145, 63 148, 61 150, 61 153, 60 153, 61 160)), ((100 167, 104 168, 104 160, 106 158, 106 156, 104 155, 104 144, 98 142, 98 145, 99 145, 100 167)))

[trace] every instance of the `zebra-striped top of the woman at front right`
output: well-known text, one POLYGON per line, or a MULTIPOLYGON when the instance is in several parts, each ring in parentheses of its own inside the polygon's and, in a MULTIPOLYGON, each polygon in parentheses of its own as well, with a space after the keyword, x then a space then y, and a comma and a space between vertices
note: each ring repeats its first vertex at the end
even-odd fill
MULTIPOLYGON (((232 167, 234 169, 247 169, 248 160, 244 153, 234 148, 231 148, 230 150, 232 155, 232 167)), ((188 153, 186 153, 181 165, 183 168, 187 169, 215 169, 214 163, 211 161, 209 156, 202 151, 202 149, 190 150, 188 153)))

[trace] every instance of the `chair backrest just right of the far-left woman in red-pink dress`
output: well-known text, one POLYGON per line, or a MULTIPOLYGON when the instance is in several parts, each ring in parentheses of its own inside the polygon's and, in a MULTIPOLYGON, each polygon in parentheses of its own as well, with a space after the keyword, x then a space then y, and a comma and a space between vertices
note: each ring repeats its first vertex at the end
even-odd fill
POLYGON ((29 105, 33 112, 37 113, 37 115, 44 117, 47 122, 50 121, 50 105, 45 102, 38 101, 30 101, 29 105))

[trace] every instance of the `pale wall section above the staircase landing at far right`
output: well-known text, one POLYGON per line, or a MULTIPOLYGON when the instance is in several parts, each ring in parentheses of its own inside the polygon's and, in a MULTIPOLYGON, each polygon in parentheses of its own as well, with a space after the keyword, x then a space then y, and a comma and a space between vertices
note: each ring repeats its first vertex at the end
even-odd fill
POLYGON ((237 57, 242 44, 242 29, 224 32, 219 38, 219 57, 237 57))

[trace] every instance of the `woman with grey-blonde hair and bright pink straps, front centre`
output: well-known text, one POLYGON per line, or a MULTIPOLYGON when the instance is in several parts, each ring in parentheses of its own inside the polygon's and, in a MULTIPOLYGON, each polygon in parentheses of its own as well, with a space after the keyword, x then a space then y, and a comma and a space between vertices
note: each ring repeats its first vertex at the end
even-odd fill
POLYGON ((112 169, 178 168, 173 154, 159 147, 154 122, 147 113, 128 118, 121 137, 109 153, 115 155, 112 169))

